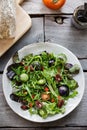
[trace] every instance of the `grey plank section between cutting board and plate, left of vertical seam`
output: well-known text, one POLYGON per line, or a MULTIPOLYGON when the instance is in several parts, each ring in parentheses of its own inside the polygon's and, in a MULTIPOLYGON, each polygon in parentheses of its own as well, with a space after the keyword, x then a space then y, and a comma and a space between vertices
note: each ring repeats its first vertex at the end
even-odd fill
POLYGON ((32 18, 31 29, 0 58, 0 71, 3 71, 5 64, 14 52, 25 45, 40 41, 44 41, 43 17, 32 18))

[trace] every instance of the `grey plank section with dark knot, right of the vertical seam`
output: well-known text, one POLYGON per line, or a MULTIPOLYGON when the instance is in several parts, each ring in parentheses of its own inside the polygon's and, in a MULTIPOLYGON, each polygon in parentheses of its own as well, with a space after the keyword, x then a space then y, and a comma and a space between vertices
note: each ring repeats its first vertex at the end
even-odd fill
POLYGON ((71 24, 71 16, 46 16, 45 41, 58 43, 71 50, 78 58, 87 58, 87 30, 78 30, 71 24), (58 18, 63 24, 58 24, 58 18))

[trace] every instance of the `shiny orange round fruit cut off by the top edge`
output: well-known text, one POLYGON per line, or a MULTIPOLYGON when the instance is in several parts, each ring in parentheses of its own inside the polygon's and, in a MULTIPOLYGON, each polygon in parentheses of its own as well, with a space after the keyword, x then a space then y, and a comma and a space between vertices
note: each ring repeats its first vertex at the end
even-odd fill
POLYGON ((60 9, 64 4, 66 0, 43 0, 44 4, 53 10, 60 9))

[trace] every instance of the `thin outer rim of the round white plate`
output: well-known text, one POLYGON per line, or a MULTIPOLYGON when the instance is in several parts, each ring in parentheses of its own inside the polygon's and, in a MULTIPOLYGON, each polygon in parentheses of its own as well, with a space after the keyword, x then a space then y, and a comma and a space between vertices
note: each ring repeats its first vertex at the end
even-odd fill
MULTIPOLYGON (((69 49, 67 49, 66 47, 64 47, 64 46, 62 46, 62 45, 59 45, 59 44, 57 44, 57 43, 50 43, 50 42, 32 43, 32 44, 23 46, 21 49, 18 50, 18 52, 22 51, 22 49, 27 48, 27 47, 30 47, 30 48, 31 48, 31 47, 39 46, 39 45, 42 46, 41 44, 42 44, 42 45, 49 45, 49 46, 53 45, 53 46, 61 47, 61 48, 65 49, 66 51, 68 51, 69 53, 71 53, 71 54, 76 58, 76 60, 79 62, 78 58, 77 58, 69 49)), ((4 92, 4 76, 6 76, 6 74, 5 74, 5 73, 6 73, 6 68, 7 68, 9 62, 11 61, 11 59, 12 59, 12 57, 8 60, 6 66, 5 66, 5 69, 4 69, 4 71, 3 71, 3 76, 2 76, 2 86, 3 86, 4 96, 5 96, 5 92, 4 92)), ((60 118, 57 118, 57 119, 53 119, 53 120, 51 119, 51 120, 48 120, 48 121, 47 121, 47 120, 43 120, 43 121, 42 121, 42 120, 39 120, 39 121, 34 120, 34 121, 33 121, 32 119, 28 119, 27 117, 23 117, 23 116, 20 115, 18 112, 16 112, 16 111, 12 108, 11 104, 9 104, 9 102, 8 102, 6 96, 5 96, 5 99, 6 99, 7 104, 9 105, 9 107, 10 107, 17 115, 19 115, 19 116, 22 117, 23 119, 26 119, 26 120, 31 121, 31 122, 46 123, 46 122, 52 122, 52 121, 56 121, 56 120, 59 120, 59 119, 64 118, 65 116, 67 116, 68 114, 70 114, 70 113, 79 105, 79 103, 81 102, 82 97, 83 97, 83 95, 84 95, 84 90, 85 90, 85 76, 84 76, 84 73, 83 73, 83 69, 82 69, 81 63, 79 62, 79 64, 80 64, 80 68, 81 68, 81 71, 82 71, 82 77, 83 77, 83 86, 84 86, 84 88, 83 88, 83 93, 82 93, 81 98, 80 98, 79 102, 77 103, 77 105, 75 105, 75 106, 73 107, 73 109, 70 110, 68 113, 64 114, 64 116, 62 116, 62 117, 60 117, 60 118)), ((57 115, 57 114, 56 114, 56 115, 57 115)))

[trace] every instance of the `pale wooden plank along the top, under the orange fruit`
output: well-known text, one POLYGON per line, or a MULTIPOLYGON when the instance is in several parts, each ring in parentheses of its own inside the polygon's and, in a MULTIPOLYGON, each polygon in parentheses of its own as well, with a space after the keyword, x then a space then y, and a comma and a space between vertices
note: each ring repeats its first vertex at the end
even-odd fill
POLYGON ((60 14, 60 13, 73 13, 74 9, 83 5, 87 0, 66 0, 65 5, 60 10, 48 9, 42 0, 25 0, 22 7, 28 14, 60 14))

